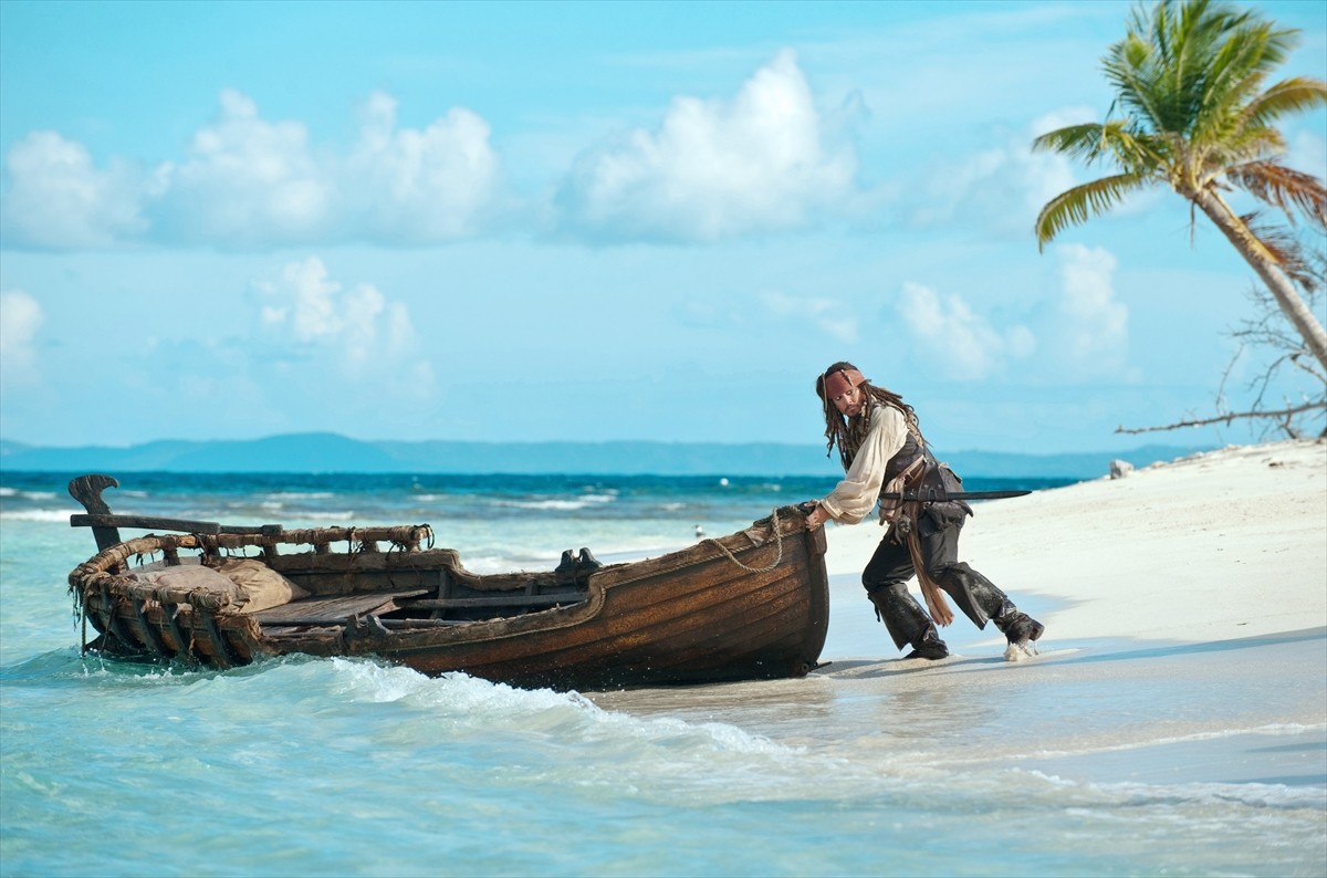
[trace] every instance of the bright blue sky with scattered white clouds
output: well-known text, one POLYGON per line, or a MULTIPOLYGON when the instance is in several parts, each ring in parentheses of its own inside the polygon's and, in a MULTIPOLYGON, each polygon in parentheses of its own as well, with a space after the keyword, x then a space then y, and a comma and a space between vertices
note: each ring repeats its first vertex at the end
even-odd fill
POLYGON ((941 451, 1255 440, 1117 432, 1266 367, 1205 218, 1032 235, 1129 9, 0 0, 0 438, 819 444, 847 359, 941 451))

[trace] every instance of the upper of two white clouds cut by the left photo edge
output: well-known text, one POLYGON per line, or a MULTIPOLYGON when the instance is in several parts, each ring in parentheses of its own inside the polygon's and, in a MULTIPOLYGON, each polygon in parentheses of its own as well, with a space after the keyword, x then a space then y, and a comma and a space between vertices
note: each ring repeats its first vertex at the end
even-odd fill
POLYGON ((115 162, 98 170, 86 147, 54 131, 32 131, 4 160, 0 208, 5 240, 42 248, 107 247, 147 228, 143 182, 115 162))

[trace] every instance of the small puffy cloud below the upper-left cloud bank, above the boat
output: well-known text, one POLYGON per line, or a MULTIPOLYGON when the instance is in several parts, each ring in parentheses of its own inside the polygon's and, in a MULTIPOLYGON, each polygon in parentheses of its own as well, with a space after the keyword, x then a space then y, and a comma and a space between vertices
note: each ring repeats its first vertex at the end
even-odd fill
POLYGON ((403 302, 370 284, 346 289, 316 256, 285 265, 277 280, 257 288, 268 302, 260 317, 279 362, 308 361, 384 390, 431 391, 433 367, 421 357, 403 302))

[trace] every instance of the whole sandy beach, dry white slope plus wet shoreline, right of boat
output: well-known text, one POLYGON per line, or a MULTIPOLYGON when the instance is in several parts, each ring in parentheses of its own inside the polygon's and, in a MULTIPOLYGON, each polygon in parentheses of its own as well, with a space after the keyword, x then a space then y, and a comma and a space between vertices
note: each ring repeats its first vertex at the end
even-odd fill
POLYGON ((1230 447, 981 504, 959 557, 1046 623, 1027 662, 1005 662, 994 626, 957 613, 941 630, 949 659, 901 660, 859 580, 880 536, 871 521, 829 527, 832 663, 816 674, 848 698, 932 700, 921 714, 943 711, 945 692, 989 694, 991 710, 942 723, 953 749, 934 741, 924 761, 1287 784, 1320 788, 1327 808, 1323 442, 1230 447))

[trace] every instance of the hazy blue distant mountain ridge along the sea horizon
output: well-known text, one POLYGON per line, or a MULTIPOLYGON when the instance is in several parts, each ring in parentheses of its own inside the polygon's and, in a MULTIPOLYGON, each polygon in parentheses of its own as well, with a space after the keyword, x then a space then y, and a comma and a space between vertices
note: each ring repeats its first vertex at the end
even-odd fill
MULTIPOLYGON (((1205 448, 1147 446, 1125 452, 942 455, 965 476, 1092 479, 1113 459, 1144 467, 1205 448)), ((0 440, 0 470, 28 472, 447 472, 584 475, 833 476, 823 446, 686 442, 361 442, 313 432, 265 439, 162 440, 114 448, 49 448, 0 440)))

